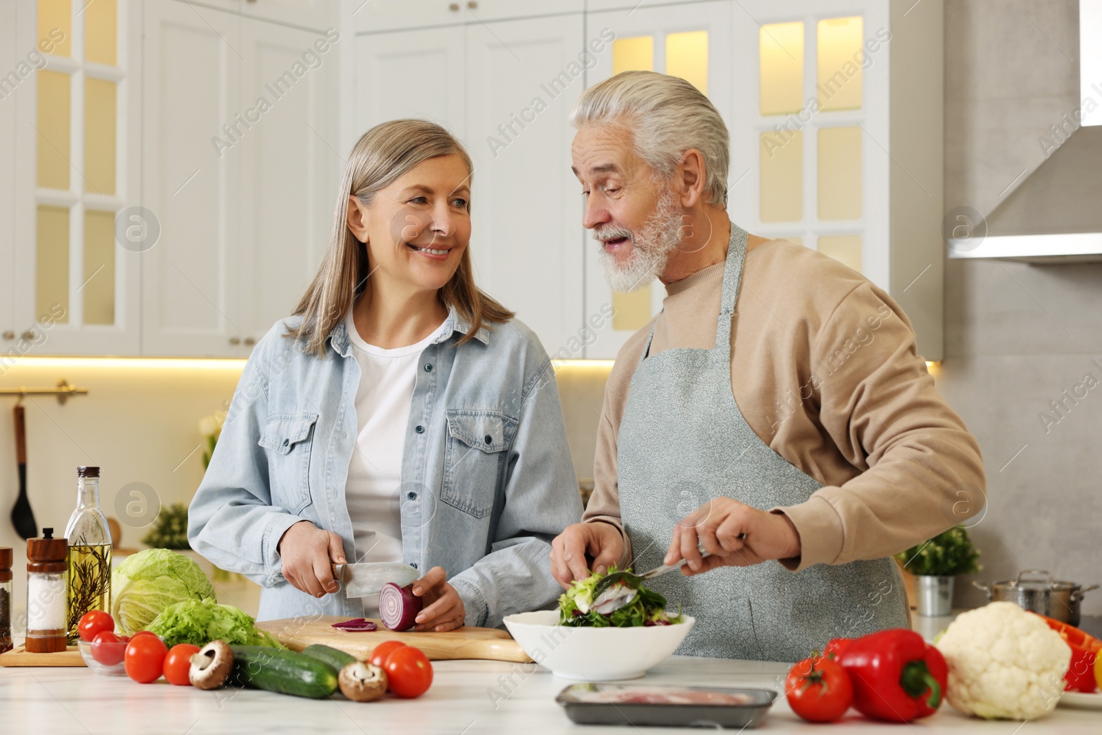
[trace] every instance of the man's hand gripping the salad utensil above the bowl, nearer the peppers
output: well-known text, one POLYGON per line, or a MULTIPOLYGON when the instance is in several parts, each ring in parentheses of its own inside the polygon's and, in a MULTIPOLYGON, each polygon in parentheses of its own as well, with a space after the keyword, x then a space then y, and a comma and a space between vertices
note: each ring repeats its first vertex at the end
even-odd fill
POLYGON ((731 498, 709 500, 673 527, 665 564, 687 560, 681 573, 701 574, 716 566, 750 566, 800 555, 800 534, 788 516, 758 510, 731 498), (700 555, 703 543, 711 556, 700 555))

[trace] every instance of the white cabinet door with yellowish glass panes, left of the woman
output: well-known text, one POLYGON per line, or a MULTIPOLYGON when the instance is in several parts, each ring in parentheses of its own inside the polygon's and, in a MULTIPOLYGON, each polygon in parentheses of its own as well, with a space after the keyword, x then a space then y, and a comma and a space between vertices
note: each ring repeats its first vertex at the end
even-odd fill
POLYGON ((37 0, 33 8, 43 64, 26 120, 37 323, 28 333, 50 332, 39 354, 136 354, 137 263, 116 241, 131 158, 120 148, 128 96, 118 2, 37 0))

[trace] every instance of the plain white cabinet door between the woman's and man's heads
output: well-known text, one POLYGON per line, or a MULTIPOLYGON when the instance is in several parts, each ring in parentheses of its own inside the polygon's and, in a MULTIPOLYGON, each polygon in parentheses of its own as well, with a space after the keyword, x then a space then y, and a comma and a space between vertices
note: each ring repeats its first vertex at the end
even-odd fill
POLYGON ((476 279, 551 354, 577 337, 583 316, 582 199, 568 121, 584 88, 582 20, 579 13, 466 26, 476 279))

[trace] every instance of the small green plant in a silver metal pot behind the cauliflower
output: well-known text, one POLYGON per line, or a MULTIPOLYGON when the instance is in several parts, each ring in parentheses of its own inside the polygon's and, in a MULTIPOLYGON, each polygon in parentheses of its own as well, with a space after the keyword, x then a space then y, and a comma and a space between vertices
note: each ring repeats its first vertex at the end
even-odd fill
POLYGON ((979 559, 980 551, 963 526, 954 526, 896 554, 903 569, 915 575, 915 613, 927 617, 949 615, 953 606, 953 577, 979 572, 983 569, 979 559))

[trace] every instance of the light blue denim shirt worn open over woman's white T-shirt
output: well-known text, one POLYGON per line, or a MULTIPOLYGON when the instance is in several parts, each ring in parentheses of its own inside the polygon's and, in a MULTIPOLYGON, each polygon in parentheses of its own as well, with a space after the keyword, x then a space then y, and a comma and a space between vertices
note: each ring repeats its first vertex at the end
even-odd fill
MULTIPOLYGON (((218 444, 188 510, 192 548, 259 583, 258 619, 364 615, 344 588, 322 598, 283 577, 277 544, 300 520, 337 533, 356 561, 345 480, 357 436, 360 369, 343 321, 325 354, 278 322, 245 366, 218 444)), ((421 353, 396 502, 402 558, 442 566, 466 625, 501 625, 551 604, 551 539, 581 519, 562 409, 548 355, 511 320, 469 328, 454 311, 421 353)), ((374 601, 369 601, 374 604, 374 601)))

